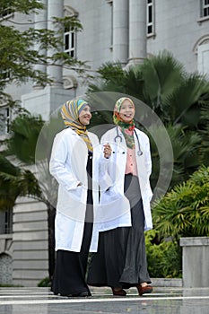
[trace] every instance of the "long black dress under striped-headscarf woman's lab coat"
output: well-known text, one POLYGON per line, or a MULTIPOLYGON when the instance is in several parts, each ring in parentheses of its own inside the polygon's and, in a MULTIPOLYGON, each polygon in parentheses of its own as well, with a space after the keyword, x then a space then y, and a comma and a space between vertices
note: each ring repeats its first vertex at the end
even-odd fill
POLYGON ((57 250, 56 266, 53 275, 51 291, 55 294, 64 296, 78 294, 80 292, 91 292, 86 283, 86 269, 88 263, 89 249, 91 245, 92 234, 92 190, 91 190, 91 171, 92 154, 89 153, 88 163, 88 193, 87 205, 83 231, 83 242, 80 252, 57 250))

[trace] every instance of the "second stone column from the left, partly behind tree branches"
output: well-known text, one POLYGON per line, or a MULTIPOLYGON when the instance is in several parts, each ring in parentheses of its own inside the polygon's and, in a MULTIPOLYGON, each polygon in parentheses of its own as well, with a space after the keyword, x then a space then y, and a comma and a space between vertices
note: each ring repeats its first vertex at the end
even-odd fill
MULTIPOLYGON (((64 13, 64 0, 48 0, 48 30, 58 31, 57 23, 53 22, 53 17, 63 17, 64 13)), ((57 35, 58 36, 58 35, 57 35)), ((63 47, 60 47, 60 51, 63 47)), ((54 49, 48 49, 48 57, 52 56, 53 53, 58 52, 54 49)), ((57 65, 48 65, 48 76, 53 80, 51 87, 62 87, 62 66, 57 62, 57 65)))

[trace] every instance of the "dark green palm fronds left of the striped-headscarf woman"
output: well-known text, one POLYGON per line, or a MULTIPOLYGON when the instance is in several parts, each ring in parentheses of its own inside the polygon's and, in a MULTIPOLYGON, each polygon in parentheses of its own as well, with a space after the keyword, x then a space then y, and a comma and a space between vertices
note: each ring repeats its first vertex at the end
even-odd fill
POLYGON ((0 154, 0 209, 12 209, 18 196, 32 196, 46 200, 35 175, 20 162, 32 164, 39 132, 44 121, 30 114, 20 114, 13 119, 11 136, 5 142, 6 148, 0 154), (19 161, 8 156, 14 155, 19 161))

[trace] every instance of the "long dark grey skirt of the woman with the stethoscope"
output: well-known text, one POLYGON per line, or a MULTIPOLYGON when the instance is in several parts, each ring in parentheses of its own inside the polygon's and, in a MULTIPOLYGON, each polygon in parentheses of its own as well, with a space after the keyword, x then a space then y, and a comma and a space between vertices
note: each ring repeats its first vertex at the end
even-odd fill
POLYGON ((125 195, 131 206, 131 227, 100 232, 98 252, 91 257, 87 283, 129 288, 151 283, 144 242, 144 209, 136 176, 125 176, 125 195))

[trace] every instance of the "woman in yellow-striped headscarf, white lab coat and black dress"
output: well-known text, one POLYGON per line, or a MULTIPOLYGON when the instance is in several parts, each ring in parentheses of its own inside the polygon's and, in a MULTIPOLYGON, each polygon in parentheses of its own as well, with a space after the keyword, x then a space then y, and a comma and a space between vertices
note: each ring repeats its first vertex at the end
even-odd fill
POLYGON ((97 250, 93 205, 98 205, 98 137, 87 132, 91 108, 84 100, 67 101, 61 115, 66 128, 55 137, 49 163, 57 179, 56 267, 52 292, 90 296, 85 282, 89 250, 97 250), (93 204, 93 205, 92 205, 93 204), (95 233, 95 236, 94 236, 95 233))

